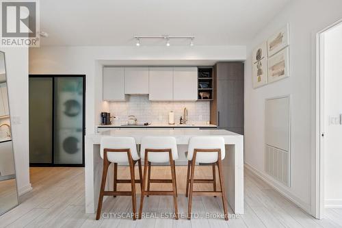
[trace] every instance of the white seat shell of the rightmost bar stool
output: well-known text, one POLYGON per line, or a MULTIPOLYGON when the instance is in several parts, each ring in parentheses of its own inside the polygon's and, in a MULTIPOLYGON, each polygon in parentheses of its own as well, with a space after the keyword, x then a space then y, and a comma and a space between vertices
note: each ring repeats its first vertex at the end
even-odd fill
MULTIPOLYGON (((187 160, 191 161, 194 155, 194 149, 221 149, 221 159, 226 156, 224 147, 224 138, 218 136, 196 136, 189 140, 189 149, 187 151, 187 160)), ((217 152, 198 152, 196 162, 213 163, 218 162, 217 152)))

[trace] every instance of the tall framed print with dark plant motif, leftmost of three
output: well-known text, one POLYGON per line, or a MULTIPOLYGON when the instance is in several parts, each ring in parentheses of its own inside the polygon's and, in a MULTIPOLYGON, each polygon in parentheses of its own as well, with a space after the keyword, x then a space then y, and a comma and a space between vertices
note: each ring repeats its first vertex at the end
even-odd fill
POLYGON ((263 42, 252 51, 253 87, 267 84, 267 44, 263 42))

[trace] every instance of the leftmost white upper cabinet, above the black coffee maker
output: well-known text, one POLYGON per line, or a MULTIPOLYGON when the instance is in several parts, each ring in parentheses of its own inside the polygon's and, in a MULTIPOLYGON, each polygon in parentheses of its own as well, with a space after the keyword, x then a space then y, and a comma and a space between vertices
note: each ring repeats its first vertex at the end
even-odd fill
POLYGON ((124 94, 124 68, 103 68, 103 100, 125 101, 124 94))

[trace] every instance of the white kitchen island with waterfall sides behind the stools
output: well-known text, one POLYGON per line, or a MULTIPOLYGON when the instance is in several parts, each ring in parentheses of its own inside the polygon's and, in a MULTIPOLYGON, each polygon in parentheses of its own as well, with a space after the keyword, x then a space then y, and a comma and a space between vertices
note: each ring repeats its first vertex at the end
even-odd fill
MULTIPOLYGON (((100 142, 103 136, 131 136, 140 144, 144 136, 173 136, 179 145, 187 145, 193 136, 222 136, 226 157, 222 160, 226 198, 235 214, 244 214, 244 136, 223 129, 112 129, 86 136, 86 213, 96 212, 101 186, 103 160, 100 142)), ((113 179, 109 170, 108 179, 113 179)), ((113 181, 106 188, 113 188, 113 181)), ((179 194, 185 192, 179 192, 179 194)))

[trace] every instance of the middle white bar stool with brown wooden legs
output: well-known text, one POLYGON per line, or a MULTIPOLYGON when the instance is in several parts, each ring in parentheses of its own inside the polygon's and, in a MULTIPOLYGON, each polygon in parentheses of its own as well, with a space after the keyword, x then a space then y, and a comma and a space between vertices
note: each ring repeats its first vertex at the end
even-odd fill
POLYGON ((175 218, 178 219, 178 208, 176 199, 176 169, 174 160, 178 159, 178 151, 176 138, 168 136, 147 136, 142 138, 141 152, 142 160, 144 160, 144 181, 142 184, 142 194, 140 197, 139 219, 142 218, 142 207, 144 196, 149 195, 172 195, 174 199, 175 218), (150 163, 166 163, 170 162, 172 179, 150 179, 150 163), (149 164, 149 168, 148 168, 149 164), (147 170, 149 169, 149 174, 147 170), (148 176, 148 178, 146 178, 148 176), (145 190, 146 181, 148 181, 148 189, 145 190), (172 191, 151 191, 150 183, 172 183, 172 191))

